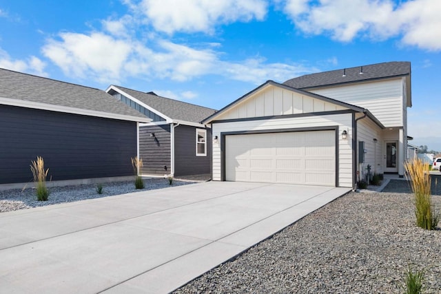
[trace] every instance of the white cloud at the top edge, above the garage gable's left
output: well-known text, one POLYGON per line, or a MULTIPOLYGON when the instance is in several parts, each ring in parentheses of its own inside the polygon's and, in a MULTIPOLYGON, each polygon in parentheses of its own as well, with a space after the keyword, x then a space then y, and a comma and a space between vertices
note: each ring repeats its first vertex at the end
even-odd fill
MULTIPOLYGON (((133 9, 133 3, 130 3, 133 9)), ((265 0, 143 0, 141 10, 157 31, 207 32, 214 26, 234 21, 262 20, 267 13, 265 0)))

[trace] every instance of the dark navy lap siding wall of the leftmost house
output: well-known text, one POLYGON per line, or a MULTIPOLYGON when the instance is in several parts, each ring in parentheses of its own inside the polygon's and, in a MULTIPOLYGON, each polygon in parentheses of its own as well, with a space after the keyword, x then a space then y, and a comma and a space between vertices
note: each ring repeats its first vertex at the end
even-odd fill
POLYGON ((48 180, 129 176, 136 123, 0 105, 0 184, 31 181, 37 156, 48 180))

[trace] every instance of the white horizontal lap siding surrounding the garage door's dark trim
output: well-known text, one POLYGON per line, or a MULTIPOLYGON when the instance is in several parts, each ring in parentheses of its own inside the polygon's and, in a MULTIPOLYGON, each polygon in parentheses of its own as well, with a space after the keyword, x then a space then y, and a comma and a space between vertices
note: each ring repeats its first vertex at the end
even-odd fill
MULTIPOLYGON (((310 128, 325 127, 338 125, 338 134, 343 130, 347 130, 347 140, 342 140, 339 136, 339 186, 352 186, 352 114, 334 114, 329 116, 306 116, 299 118, 275 118, 271 120, 248 120, 230 123, 214 123, 212 125, 213 136, 220 138, 222 132, 243 132, 243 131, 260 131, 269 129, 294 129, 294 128, 310 128)), ((221 140, 222 138, 220 138, 221 140)), ((220 140, 213 144, 213 180, 221 180, 221 160, 220 140)))

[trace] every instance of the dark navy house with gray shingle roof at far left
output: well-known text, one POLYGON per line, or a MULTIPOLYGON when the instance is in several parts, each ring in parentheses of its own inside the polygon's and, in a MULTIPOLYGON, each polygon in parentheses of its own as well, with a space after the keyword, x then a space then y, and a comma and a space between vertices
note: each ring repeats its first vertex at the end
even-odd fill
POLYGON ((52 180, 130 176, 148 122, 102 90, 0 69, 0 184, 32 181, 37 156, 52 180))

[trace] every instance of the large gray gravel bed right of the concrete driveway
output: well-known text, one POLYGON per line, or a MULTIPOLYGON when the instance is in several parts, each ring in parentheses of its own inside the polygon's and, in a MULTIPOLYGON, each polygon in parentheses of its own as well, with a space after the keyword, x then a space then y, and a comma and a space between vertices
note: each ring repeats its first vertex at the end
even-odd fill
POLYGON ((424 269, 424 293, 441 293, 441 230, 416 227, 412 201, 349 193, 174 293, 404 293, 409 265, 424 269))

